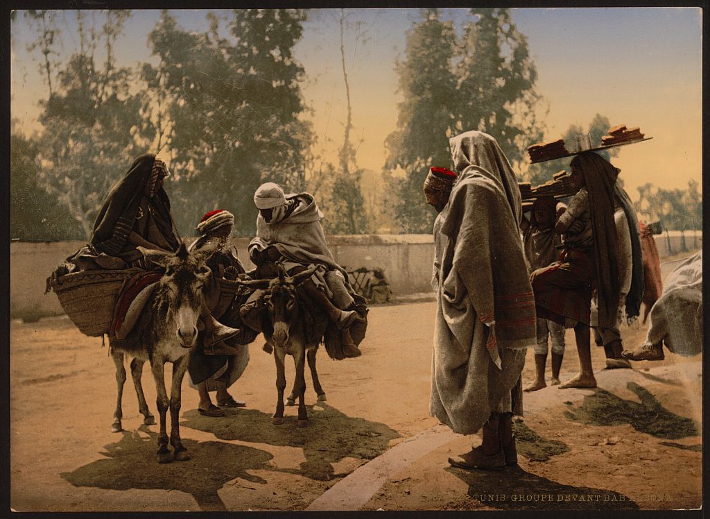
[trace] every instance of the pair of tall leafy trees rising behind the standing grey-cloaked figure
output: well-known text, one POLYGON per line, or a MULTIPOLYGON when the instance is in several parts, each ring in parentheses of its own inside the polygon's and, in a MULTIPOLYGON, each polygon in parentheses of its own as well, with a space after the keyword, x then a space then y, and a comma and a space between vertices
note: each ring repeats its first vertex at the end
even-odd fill
POLYGON ((528 41, 508 9, 471 9, 460 40, 437 9, 422 11, 398 63, 398 129, 387 139, 386 168, 399 200, 394 213, 405 232, 430 232, 434 214, 422 196, 430 166, 451 164, 448 137, 471 129, 491 134, 520 176, 525 149, 542 138, 536 107, 537 70, 528 41))

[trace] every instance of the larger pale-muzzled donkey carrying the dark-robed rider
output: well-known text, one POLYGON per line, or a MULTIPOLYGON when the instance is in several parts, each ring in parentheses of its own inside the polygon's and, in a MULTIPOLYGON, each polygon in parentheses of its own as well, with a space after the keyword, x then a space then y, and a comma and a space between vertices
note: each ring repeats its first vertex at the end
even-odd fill
POLYGON ((158 412, 160 413, 160 434, 158 435, 158 462, 171 461, 168 449, 168 434, 165 432, 165 415, 170 408, 170 444, 175 449, 175 460, 190 459, 187 449, 180 442, 180 397, 182 378, 187 370, 190 348, 197 344, 197 322, 202 306, 202 286, 209 278, 209 267, 204 264, 206 257, 200 253, 190 254, 184 243, 174 255, 151 255, 151 260, 165 267, 158 287, 153 290, 143 312, 125 340, 109 339, 111 355, 116 363, 118 397, 111 430, 121 428, 121 396, 123 395, 126 370, 124 355, 131 360, 131 376, 138 395, 138 409, 145 417, 143 423, 155 424, 155 418, 148 410, 146 397, 141 386, 141 373, 146 360, 151 363, 151 371, 158 391, 158 412), (170 399, 165 391, 165 363, 173 363, 173 380, 170 399))

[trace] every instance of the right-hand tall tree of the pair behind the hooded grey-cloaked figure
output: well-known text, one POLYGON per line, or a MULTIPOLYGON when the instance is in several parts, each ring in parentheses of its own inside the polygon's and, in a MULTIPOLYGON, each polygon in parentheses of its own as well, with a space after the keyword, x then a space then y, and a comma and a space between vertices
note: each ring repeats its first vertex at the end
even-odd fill
POLYGON ((518 174, 525 149, 542 138, 535 107, 537 68, 510 10, 471 9, 458 55, 457 129, 493 136, 518 174))

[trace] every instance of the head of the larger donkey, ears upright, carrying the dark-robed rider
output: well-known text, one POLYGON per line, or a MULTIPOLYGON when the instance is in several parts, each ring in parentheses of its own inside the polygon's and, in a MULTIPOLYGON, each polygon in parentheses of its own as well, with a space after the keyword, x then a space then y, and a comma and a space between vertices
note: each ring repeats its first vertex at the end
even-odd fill
POLYGON ((190 254, 184 243, 174 255, 164 258, 165 276, 160 280, 168 303, 168 322, 172 316, 180 346, 197 343, 197 321, 202 308, 202 286, 211 271, 201 255, 190 254))

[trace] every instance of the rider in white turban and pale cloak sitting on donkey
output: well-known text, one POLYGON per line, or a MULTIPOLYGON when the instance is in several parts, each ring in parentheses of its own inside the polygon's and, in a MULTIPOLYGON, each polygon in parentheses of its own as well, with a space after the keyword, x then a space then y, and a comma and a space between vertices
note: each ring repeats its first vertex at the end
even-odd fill
POLYGON ((249 243, 249 257, 256 264, 281 262, 290 274, 310 264, 320 264, 320 270, 301 286, 313 302, 341 330, 343 353, 346 357, 361 355, 349 333, 349 327, 361 318, 354 310, 355 301, 347 281, 347 272, 337 264, 325 242, 320 220, 323 213, 309 193, 285 196, 273 182, 264 183, 254 193, 259 210, 256 237, 249 243))

